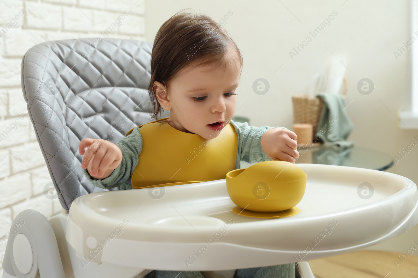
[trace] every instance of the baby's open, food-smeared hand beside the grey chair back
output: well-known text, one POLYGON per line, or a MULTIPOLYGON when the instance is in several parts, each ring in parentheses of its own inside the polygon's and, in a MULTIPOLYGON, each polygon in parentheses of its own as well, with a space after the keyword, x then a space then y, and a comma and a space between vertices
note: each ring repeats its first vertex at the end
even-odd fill
POLYGON ((122 162, 120 148, 107 140, 84 138, 79 144, 79 153, 83 155, 81 167, 87 168, 89 174, 107 178, 122 162), (87 148, 84 153, 84 149, 87 148))

